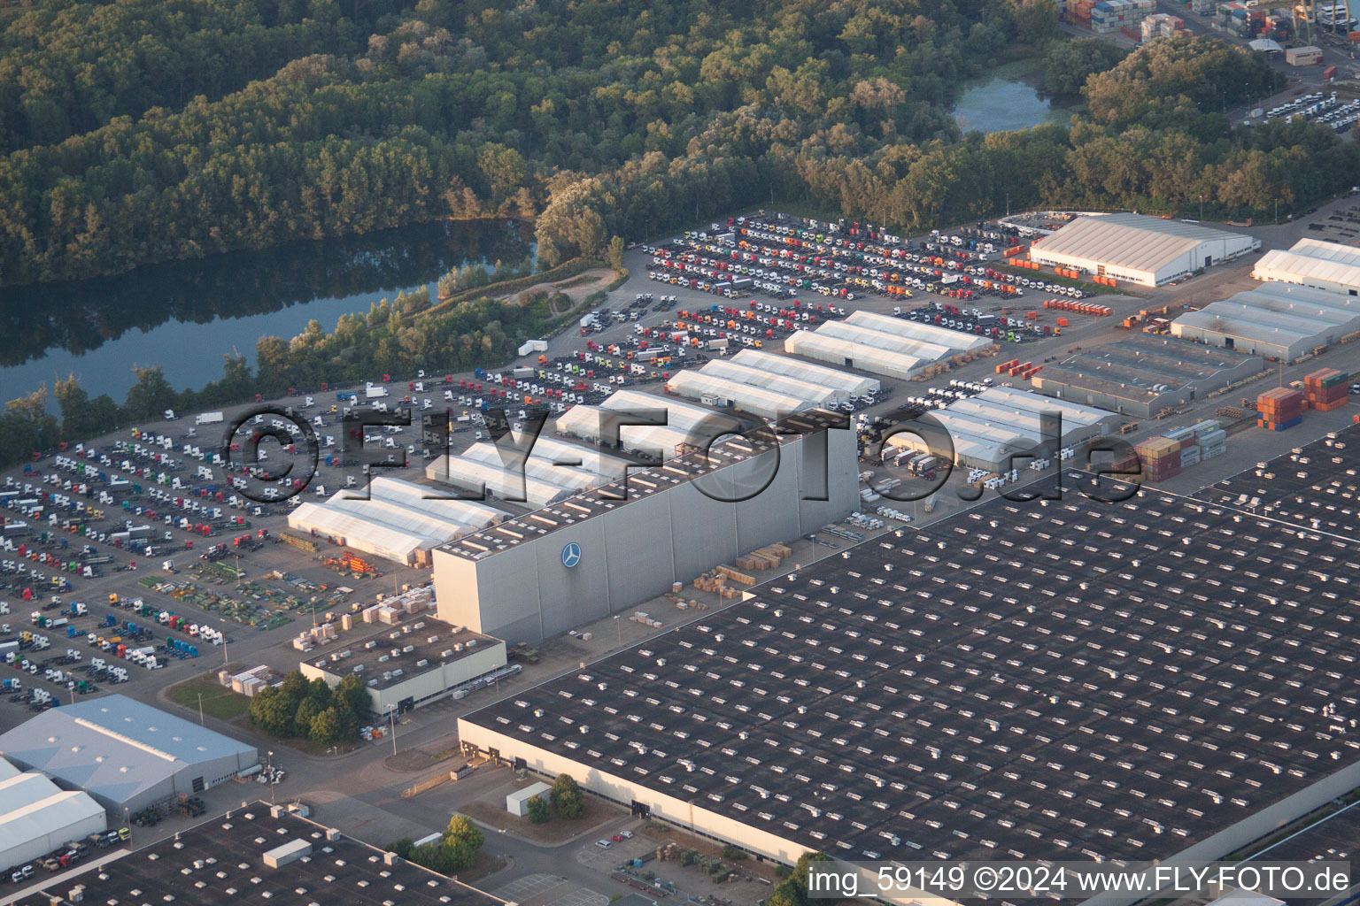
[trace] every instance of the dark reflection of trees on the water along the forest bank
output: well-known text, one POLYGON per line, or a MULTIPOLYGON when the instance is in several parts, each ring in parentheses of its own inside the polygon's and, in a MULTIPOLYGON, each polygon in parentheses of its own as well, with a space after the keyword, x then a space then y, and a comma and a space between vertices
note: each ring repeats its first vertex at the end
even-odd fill
POLYGON ((177 261, 98 280, 0 291, 0 365, 80 355, 132 329, 269 314, 318 299, 396 292, 473 261, 521 261, 515 221, 438 223, 177 261))

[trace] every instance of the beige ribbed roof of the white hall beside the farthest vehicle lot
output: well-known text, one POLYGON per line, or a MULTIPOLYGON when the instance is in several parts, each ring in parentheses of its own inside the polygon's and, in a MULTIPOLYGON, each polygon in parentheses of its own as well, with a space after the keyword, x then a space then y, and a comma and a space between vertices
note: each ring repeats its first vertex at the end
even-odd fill
POLYGON ((1202 242, 1251 238, 1197 223, 1136 213, 1084 215, 1035 246, 1044 255, 1100 261, 1115 268, 1156 273, 1202 242))

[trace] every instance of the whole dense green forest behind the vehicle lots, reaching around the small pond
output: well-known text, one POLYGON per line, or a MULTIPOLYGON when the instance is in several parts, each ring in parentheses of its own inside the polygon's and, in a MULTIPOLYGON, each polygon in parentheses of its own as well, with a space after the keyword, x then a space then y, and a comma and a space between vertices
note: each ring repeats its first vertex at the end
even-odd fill
POLYGON ((551 266, 770 200, 907 231, 1006 193, 1263 211, 1353 164, 1325 129, 1228 122, 1277 87, 1259 57, 1178 38, 1119 61, 1058 39, 1051 0, 400 4, 0 12, 0 283, 449 217, 536 217, 551 266), (960 136, 960 81, 1044 48, 1089 114, 960 136))

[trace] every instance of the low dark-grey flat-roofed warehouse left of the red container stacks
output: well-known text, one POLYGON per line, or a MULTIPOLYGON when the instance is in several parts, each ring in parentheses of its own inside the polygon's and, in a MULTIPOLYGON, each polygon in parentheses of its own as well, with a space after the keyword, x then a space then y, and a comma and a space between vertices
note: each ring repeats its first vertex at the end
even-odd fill
POLYGON ((1183 405, 1261 372, 1261 356, 1178 337, 1136 333, 1043 367, 1035 390, 1138 418, 1183 405))

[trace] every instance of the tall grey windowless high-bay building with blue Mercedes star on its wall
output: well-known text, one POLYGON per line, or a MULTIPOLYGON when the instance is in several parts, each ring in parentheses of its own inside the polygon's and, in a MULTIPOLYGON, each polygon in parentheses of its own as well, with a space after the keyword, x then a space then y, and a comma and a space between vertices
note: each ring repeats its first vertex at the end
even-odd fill
POLYGON ((534 641, 836 522, 860 508, 860 479, 854 435, 835 424, 800 413, 781 427, 805 433, 778 444, 767 432, 721 441, 711 459, 690 452, 437 547, 439 619, 534 641))

